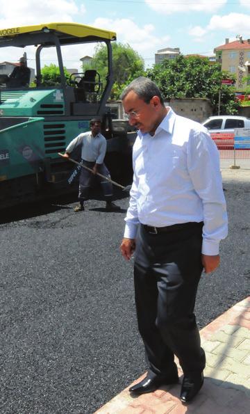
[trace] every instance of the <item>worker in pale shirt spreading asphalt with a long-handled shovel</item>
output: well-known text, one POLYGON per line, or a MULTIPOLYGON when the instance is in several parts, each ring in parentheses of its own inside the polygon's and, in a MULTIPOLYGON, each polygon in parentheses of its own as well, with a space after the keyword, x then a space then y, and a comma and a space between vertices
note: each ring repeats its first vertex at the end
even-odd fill
POLYGON ((100 173, 101 175, 110 178, 108 168, 103 162, 106 154, 107 141, 101 134, 101 120, 99 118, 90 120, 89 132, 79 134, 73 141, 71 141, 71 143, 69 143, 65 150, 64 157, 69 158, 71 152, 78 145, 81 145, 81 162, 83 165, 91 168, 92 173, 86 168, 81 168, 78 193, 79 205, 74 208, 74 212, 81 212, 85 209, 84 202, 85 200, 88 200, 90 187, 95 178, 101 182, 103 195, 106 199, 106 210, 108 212, 118 211, 120 207, 115 205, 115 202, 112 201, 113 186, 111 182, 97 175, 97 173, 100 173))

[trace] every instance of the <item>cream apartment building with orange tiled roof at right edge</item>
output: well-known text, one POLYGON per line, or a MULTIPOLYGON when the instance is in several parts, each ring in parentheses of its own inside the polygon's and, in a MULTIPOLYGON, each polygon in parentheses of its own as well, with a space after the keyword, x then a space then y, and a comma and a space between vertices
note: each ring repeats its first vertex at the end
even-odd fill
POLYGON ((236 75, 235 88, 244 91, 247 87, 244 77, 250 75, 250 39, 243 40, 242 36, 237 36, 234 42, 226 39, 224 45, 215 47, 214 53, 222 70, 236 75))

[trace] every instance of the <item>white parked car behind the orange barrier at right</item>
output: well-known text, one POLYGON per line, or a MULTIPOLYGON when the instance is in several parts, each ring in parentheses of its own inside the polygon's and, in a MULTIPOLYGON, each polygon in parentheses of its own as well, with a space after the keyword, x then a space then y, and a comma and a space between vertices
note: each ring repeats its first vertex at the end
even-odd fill
POLYGON ((250 118, 237 115, 210 116, 202 122, 219 150, 233 148, 235 128, 250 128, 250 118))

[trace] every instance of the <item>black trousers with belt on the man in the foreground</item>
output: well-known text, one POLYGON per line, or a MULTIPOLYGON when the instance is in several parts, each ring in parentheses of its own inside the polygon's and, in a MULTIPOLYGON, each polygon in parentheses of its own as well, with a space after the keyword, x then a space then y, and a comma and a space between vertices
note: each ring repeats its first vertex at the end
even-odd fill
POLYGON ((203 371, 194 303, 203 266, 203 223, 151 234, 140 225, 135 249, 135 304, 149 370, 167 375, 178 357, 184 374, 203 371))

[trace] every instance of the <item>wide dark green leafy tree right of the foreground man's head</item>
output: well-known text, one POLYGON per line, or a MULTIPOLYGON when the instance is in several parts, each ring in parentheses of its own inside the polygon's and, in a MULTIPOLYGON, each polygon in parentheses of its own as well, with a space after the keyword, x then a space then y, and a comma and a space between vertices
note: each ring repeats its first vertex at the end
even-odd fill
POLYGON ((221 71, 220 66, 211 64, 208 58, 178 56, 173 61, 147 70, 147 77, 155 81, 166 100, 184 97, 206 97, 218 113, 219 90, 221 92, 220 113, 233 114, 238 111, 233 86, 222 85, 222 79, 235 81, 234 75, 221 71))

